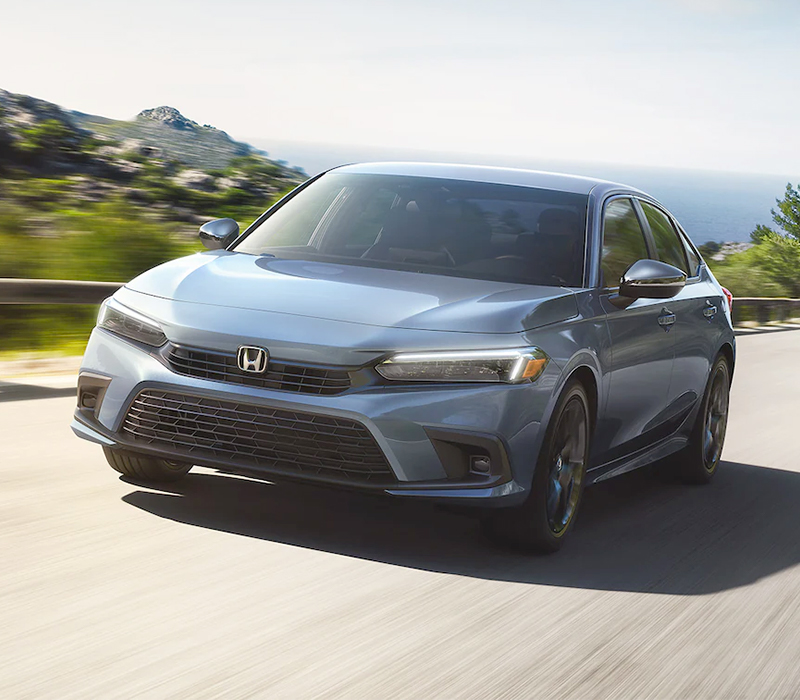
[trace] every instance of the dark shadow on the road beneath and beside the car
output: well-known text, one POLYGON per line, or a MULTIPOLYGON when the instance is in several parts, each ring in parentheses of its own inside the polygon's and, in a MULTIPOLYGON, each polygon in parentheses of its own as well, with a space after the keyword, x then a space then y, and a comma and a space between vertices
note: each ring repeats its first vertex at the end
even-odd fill
MULTIPOLYGON (((133 484, 133 482, 128 481, 133 484)), ((549 586, 703 595, 800 562, 800 473, 723 462, 714 483, 634 472, 585 493, 556 555, 505 551, 476 519, 430 503, 208 472, 126 503, 180 523, 459 576, 549 586)))

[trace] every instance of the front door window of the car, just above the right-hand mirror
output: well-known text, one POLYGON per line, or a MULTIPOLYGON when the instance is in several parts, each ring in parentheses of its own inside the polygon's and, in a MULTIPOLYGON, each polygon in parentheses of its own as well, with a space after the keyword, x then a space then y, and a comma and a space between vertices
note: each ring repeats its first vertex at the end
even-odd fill
POLYGON ((612 200, 603 214, 603 285, 618 287, 625 270, 647 257, 644 233, 631 201, 612 200))

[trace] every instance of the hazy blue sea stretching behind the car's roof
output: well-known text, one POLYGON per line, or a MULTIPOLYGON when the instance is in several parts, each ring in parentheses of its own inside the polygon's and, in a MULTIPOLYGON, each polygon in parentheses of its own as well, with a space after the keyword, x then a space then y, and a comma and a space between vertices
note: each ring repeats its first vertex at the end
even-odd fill
POLYGON ((786 183, 800 182, 794 175, 761 175, 709 170, 679 170, 602 163, 576 163, 509 156, 409 151, 392 147, 369 148, 249 139, 273 158, 303 168, 309 175, 343 163, 376 160, 418 160, 473 163, 513 168, 551 170, 623 182, 649 193, 681 222, 698 245, 707 241, 749 241, 758 224, 772 224, 770 209, 783 197, 786 183))

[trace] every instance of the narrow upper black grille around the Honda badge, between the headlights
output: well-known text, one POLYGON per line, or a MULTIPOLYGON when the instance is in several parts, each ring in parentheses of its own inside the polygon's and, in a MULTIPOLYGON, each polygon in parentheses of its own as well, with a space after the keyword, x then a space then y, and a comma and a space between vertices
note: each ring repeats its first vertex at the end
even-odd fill
POLYGON ((350 375, 340 368, 270 360, 264 374, 247 374, 236 364, 236 355, 178 345, 168 346, 165 357, 175 372, 200 379, 317 395, 340 394, 350 388, 350 375))

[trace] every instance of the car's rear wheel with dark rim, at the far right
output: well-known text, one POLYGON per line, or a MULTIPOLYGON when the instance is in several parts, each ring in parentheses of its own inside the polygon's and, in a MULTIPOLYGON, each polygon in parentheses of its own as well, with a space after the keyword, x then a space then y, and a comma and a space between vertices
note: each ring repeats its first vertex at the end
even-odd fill
POLYGON ((708 484, 717 473, 728 426, 730 386, 728 361, 719 355, 711 368, 689 444, 671 458, 674 471, 687 484, 708 484))

